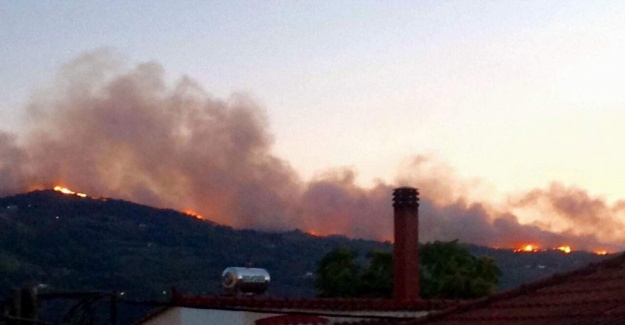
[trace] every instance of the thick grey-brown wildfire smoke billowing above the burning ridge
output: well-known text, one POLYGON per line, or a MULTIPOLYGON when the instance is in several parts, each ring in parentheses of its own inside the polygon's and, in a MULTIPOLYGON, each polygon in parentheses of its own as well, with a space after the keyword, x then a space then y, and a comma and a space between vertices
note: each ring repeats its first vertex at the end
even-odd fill
POLYGON ((422 241, 622 247, 597 234, 622 240, 616 216, 625 203, 611 206, 580 189, 554 184, 497 211, 470 195, 473 182, 425 156, 410 161, 396 184, 363 188, 350 169, 304 182, 272 146, 263 107, 245 95, 217 99, 188 77, 168 85, 159 64, 126 68, 97 51, 64 66, 53 87, 33 98, 19 138, 0 133, 0 194, 61 184, 192 209, 234 227, 390 240, 392 189, 410 185, 421 192, 422 241), (537 209, 558 227, 522 224, 513 213, 537 209))

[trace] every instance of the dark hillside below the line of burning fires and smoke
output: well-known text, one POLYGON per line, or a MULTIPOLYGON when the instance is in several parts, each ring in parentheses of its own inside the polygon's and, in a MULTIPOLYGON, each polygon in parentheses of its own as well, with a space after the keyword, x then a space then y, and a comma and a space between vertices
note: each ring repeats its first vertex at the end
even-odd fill
MULTIPOLYGON (((24 283, 47 291, 117 290, 136 298, 158 297, 172 287, 217 294, 224 268, 251 263, 270 272, 271 295, 310 297, 317 262, 340 246, 363 259, 368 251, 392 249, 390 243, 299 230, 235 230, 169 209, 34 191, 0 198, 0 295, 24 283)), ((500 288, 602 258, 468 248, 495 259, 504 273, 500 288)))

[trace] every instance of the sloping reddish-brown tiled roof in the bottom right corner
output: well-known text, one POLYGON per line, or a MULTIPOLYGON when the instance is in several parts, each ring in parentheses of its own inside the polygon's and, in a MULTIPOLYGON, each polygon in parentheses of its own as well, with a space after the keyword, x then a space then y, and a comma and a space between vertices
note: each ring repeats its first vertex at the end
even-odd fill
POLYGON ((625 254, 405 324, 625 324, 625 254))

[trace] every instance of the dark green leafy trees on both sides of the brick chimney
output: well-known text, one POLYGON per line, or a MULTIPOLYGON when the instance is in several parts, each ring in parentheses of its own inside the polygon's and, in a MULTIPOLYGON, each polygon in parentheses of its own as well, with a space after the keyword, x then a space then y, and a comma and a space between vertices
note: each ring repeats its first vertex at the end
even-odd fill
MULTIPOLYGON (((357 263, 355 251, 339 248, 319 263, 315 282, 321 297, 386 297, 393 293, 393 254, 374 251, 369 265, 357 263)), ((419 247, 422 298, 470 299, 493 292, 501 271, 489 257, 477 258, 457 241, 419 247)))

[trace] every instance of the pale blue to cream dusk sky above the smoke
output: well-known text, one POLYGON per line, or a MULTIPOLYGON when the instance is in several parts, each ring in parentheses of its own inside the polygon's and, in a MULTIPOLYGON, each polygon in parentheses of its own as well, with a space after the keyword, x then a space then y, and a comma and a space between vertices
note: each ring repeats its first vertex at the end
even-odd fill
POLYGON ((0 40, 0 131, 19 144, 64 67, 106 51, 252 101, 268 152, 302 182, 345 169, 362 189, 423 180, 406 175, 427 157, 455 186, 435 203, 564 231, 518 203, 578 191, 625 222, 619 2, 4 1, 0 40))

